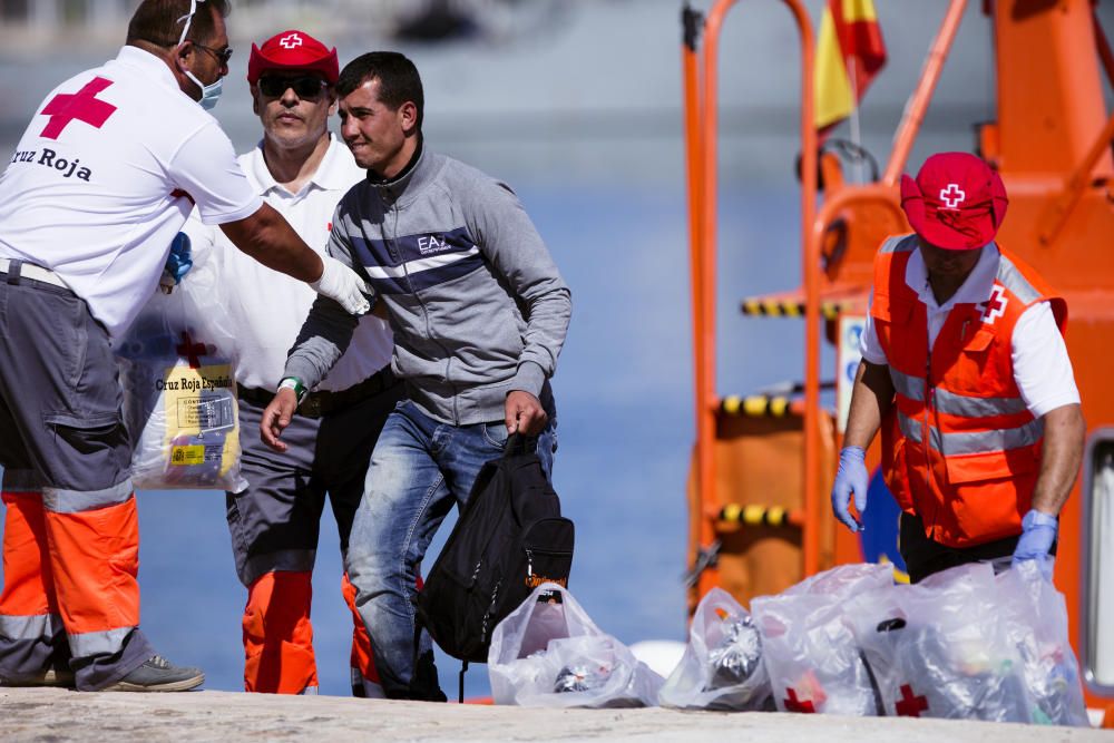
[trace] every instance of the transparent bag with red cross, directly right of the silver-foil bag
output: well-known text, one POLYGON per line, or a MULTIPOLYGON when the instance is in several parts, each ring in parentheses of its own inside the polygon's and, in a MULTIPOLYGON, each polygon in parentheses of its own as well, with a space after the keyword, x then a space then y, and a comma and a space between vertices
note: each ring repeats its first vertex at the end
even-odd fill
POLYGON ((893 585, 888 565, 841 565, 751 602, 781 712, 878 714, 877 696, 843 604, 893 585))

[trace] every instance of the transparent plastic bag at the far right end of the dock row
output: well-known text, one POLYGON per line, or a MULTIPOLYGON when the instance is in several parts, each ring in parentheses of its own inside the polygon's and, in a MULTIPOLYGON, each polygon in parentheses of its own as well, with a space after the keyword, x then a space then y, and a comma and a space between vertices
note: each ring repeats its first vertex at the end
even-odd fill
POLYGON ((1017 648, 1033 722, 1088 726, 1079 665, 1067 636, 1064 595, 1034 560, 1000 574, 999 617, 1007 642, 1017 648))

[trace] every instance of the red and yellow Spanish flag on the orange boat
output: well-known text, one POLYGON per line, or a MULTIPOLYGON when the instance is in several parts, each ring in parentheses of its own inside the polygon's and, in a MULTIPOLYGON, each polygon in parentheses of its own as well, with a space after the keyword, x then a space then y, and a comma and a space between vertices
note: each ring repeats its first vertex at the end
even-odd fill
POLYGON ((828 0, 817 45, 815 117, 821 134, 851 115, 885 63, 873 0, 828 0))

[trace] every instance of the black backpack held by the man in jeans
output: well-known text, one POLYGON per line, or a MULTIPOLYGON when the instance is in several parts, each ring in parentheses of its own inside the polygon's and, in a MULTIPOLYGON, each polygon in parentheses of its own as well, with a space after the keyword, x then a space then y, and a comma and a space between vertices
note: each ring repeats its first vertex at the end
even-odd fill
POLYGON ((536 446, 514 434, 502 457, 483 465, 418 594, 419 625, 466 667, 487 663, 495 626, 536 587, 568 586, 573 521, 560 515, 536 446))

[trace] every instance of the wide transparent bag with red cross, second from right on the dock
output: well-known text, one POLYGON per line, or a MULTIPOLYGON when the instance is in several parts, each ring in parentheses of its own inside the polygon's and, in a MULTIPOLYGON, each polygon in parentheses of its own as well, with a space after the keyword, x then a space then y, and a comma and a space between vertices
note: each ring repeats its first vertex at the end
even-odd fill
POLYGON ((885 714, 1029 722, 989 564, 859 595, 848 602, 847 616, 885 714))

